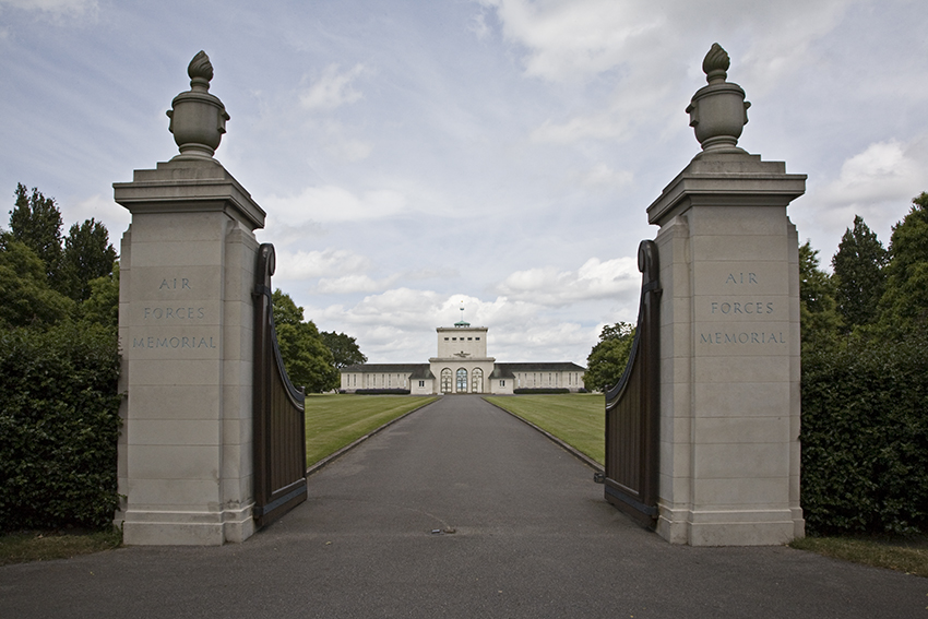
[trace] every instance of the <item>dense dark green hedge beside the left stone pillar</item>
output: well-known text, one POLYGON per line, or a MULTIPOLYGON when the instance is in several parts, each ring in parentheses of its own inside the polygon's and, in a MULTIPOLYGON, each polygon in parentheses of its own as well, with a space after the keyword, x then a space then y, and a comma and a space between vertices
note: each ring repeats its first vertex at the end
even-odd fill
POLYGON ((111 523, 118 377, 111 329, 0 332, 0 531, 111 523))

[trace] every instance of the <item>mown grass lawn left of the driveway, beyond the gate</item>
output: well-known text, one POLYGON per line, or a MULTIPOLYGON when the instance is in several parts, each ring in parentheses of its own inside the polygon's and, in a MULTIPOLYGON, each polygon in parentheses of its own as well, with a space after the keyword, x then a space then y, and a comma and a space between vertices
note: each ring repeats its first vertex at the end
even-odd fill
POLYGON ((306 464, 314 464, 437 397, 325 394, 306 396, 306 464))

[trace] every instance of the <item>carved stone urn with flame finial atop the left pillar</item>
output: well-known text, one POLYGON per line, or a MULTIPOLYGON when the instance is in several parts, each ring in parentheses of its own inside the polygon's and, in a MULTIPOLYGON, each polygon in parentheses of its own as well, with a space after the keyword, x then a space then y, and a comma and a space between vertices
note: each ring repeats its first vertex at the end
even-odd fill
POLYGON ((190 75, 190 90, 180 93, 167 110, 170 118, 168 131, 180 154, 174 159, 212 159, 213 154, 226 132, 229 115, 223 102, 210 94, 210 81, 213 79, 213 64, 205 51, 200 51, 187 67, 190 75))

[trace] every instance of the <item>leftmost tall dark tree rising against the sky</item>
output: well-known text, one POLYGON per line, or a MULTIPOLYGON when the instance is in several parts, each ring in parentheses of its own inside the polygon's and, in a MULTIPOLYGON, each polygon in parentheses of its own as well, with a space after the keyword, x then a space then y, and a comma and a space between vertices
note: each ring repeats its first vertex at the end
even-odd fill
POLYGON ((61 262, 61 212, 53 198, 46 198, 37 188, 32 194, 23 183, 16 183, 16 201, 10 211, 13 238, 25 243, 45 263, 49 284, 56 287, 61 262))

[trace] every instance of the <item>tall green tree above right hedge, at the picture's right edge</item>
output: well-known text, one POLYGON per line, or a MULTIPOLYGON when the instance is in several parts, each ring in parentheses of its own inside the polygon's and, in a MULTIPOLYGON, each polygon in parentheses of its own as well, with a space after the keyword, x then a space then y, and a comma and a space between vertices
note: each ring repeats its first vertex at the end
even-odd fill
POLYGON ((893 226, 887 287, 880 299, 880 328, 903 334, 928 326, 928 193, 893 226))

